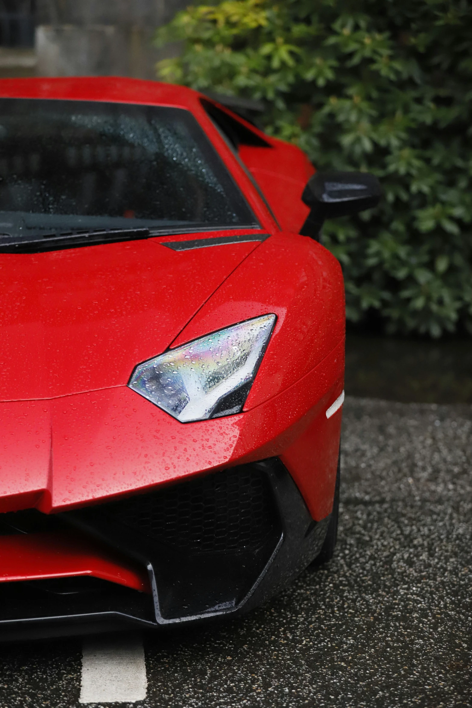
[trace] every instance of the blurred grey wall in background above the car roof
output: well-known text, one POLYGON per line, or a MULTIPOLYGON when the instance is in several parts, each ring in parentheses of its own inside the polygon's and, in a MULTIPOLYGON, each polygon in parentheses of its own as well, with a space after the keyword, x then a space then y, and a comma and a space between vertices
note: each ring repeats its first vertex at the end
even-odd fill
POLYGON ((188 0, 0 0, 0 77, 135 76, 177 47, 151 41, 188 0))

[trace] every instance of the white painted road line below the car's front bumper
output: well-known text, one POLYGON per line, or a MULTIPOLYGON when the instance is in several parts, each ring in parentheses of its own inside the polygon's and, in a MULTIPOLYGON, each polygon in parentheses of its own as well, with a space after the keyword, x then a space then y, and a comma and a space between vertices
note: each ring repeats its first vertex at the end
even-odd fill
POLYGON ((134 702, 146 698, 146 664, 136 635, 84 639, 80 703, 134 702))

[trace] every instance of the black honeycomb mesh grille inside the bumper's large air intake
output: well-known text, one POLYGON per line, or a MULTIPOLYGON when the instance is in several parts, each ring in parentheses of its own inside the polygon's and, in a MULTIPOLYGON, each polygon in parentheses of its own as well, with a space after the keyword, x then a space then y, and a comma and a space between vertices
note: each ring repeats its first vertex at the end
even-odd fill
POLYGON ((186 552, 255 550, 277 525, 267 478, 249 465, 103 505, 122 524, 186 552))

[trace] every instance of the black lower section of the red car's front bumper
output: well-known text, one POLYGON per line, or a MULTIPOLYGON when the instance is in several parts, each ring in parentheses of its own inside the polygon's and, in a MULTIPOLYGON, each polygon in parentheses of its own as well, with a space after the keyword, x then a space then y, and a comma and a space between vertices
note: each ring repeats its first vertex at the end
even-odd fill
POLYGON ((0 583, 0 639, 241 615, 316 557, 329 518, 313 520, 277 457, 62 513, 54 523, 146 568, 151 593, 96 578, 0 583))

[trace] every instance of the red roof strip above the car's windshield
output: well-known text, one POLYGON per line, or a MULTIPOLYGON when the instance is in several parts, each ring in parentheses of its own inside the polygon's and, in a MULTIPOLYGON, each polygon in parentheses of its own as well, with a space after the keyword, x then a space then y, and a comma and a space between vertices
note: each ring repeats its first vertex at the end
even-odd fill
POLYGON ((169 105, 192 110, 200 93, 186 86, 122 76, 0 79, 0 98, 52 98, 169 105))

